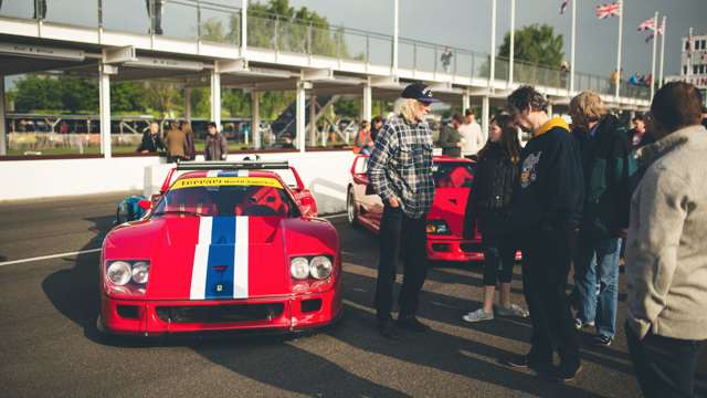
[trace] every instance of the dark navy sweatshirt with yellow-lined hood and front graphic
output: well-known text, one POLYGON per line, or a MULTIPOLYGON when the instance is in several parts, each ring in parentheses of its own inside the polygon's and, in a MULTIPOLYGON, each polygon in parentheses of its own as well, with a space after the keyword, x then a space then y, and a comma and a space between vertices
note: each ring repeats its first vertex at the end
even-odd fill
POLYGON ((579 227, 584 200, 582 163, 569 126, 559 117, 532 133, 523 148, 511 224, 519 230, 579 227))

